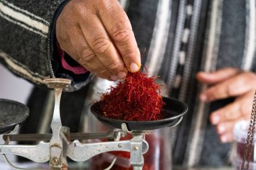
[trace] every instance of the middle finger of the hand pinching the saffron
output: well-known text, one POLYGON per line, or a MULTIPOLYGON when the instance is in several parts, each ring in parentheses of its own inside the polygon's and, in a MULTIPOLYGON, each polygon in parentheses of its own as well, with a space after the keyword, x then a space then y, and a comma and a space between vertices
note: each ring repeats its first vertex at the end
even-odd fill
MULTIPOLYGON (((86 18, 89 19, 89 18, 86 18)), ((122 58, 119 56, 114 44, 111 42, 110 38, 102 22, 96 15, 91 16, 90 20, 81 21, 80 26, 86 41, 88 42, 90 48, 96 54, 98 60, 110 71, 113 76, 117 76, 123 79, 126 75, 125 65, 122 58), (92 20, 92 21, 90 21, 92 20), (124 75, 124 76, 123 76, 124 75)), ((87 56, 82 56, 86 61, 90 58, 87 56)))

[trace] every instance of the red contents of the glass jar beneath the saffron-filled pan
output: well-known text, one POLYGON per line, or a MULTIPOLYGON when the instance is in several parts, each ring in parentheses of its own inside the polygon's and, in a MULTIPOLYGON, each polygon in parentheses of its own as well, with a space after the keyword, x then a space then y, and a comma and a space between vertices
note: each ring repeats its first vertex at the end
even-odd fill
MULTIPOLYGON (((131 139, 131 135, 125 136, 125 138, 121 138, 121 140, 129 140, 131 139)), ((150 146, 149 151, 143 155, 144 157, 144 165, 143 170, 155 170, 155 169, 170 169, 170 163, 166 161, 164 158, 164 140, 156 134, 148 134, 146 135, 146 140, 150 146)), ((90 164, 90 169, 92 170, 102 170, 106 169, 111 161, 115 157, 117 157, 117 161, 115 165, 111 168, 111 170, 132 170, 133 167, 130 165, 130 153, 123 151, 113 151, 109 153, 103 153, 102 155, 97 155, 92 159, 90 164), (108 154, 102 156, 104 154, 108 154), (110 157, 110 158, 109 158, 110 157)))

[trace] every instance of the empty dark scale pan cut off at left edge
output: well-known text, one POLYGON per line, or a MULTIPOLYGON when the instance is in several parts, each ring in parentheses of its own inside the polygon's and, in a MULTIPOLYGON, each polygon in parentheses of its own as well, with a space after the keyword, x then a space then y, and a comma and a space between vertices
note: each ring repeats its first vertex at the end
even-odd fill
POLYGON ((28 118, 29 109, 18 101, 0 99, 0 134, 13 130, 16 124, 22 124, 28 118))

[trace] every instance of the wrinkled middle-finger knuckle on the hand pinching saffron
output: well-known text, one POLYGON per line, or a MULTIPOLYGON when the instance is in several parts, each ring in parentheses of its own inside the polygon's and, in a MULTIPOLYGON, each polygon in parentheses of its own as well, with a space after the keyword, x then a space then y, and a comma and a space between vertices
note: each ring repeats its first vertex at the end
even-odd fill
POLYGON ((110 48, 110 42, 108 38, 99 36, 98 38, 94 38, 94 40, 92 40, 92 48, 97 54, 103 54, 106 53, 110 48))

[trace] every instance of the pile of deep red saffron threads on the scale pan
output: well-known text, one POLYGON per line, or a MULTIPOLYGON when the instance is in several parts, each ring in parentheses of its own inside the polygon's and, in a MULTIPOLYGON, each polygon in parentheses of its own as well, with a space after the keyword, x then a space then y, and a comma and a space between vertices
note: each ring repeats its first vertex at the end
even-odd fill
POLYGON ((128 73, 110 92, 102 94, 102 116, 117 120, 150 121, 160 120, 162 100, 156 76, 148 72, 128 73))

